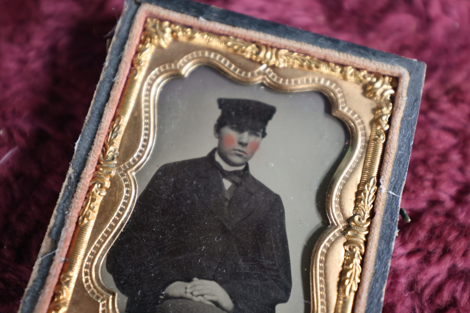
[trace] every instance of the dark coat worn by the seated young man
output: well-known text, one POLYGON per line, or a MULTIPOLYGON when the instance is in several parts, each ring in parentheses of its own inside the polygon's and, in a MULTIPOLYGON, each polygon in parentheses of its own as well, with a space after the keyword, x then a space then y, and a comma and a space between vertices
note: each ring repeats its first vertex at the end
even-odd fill
POLYGON ((110 249, 126 312, 151 312, 172 282, 218 282, 235 312, 271 313, 290 296, 282 200, 247 170, 233 197, 208 156, 160 167, 110 249), (224 213, 225 212, 225 213, 224 213))

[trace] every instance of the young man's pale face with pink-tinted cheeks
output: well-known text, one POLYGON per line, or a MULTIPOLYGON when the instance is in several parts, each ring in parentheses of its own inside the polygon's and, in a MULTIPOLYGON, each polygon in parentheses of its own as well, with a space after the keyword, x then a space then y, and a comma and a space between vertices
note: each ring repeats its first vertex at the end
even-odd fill
POLYGON ((219 139, 217 151, 220 158, 231 166, 242 166, 248 162, 261 143, 263 130, 248 130, 237 125, 227 125, 214 131, 219 139))

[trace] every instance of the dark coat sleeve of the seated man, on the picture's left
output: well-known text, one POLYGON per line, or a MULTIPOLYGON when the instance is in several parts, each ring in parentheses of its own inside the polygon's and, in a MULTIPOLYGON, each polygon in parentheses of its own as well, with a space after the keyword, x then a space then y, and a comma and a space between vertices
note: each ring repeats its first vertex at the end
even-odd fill
MULTIPOLYGON (((172 201, 172 172, 168 165, 160 167, 136 201, 129 221, 107 254, 106 268, 118 289, 134 300, 152 295, 158 298, 168 280, 180 279, 178 273, 167 273, 162 282, 155 255, 163 241, 165 208, 172 201), (169 277, 173 275, 174 277, 169 277)), ((155 299, 158 301, 158 299, 155 299)))

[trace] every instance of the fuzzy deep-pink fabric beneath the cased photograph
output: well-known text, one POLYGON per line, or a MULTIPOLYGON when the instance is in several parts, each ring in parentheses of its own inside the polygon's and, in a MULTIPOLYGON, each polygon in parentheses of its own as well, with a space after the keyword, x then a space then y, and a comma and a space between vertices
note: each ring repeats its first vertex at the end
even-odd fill
MULTIPOLYGON (((204 2, 427 63, 384 312, 470 312, 470 2, 204 2)), ((0 3, 0 312, 19 306, 121 9, 0 3)))

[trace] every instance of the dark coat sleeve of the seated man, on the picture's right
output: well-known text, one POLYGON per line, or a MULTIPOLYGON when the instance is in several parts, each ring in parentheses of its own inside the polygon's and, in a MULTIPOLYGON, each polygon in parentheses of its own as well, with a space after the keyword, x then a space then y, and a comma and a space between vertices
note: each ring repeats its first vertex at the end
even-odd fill
POLYGON ((235 279, 222 285, 234 303, 235 313, 274 312, 289 300, 292 288, 284 206, 275 195, 268 216, 258 226, 251 262, 243 262, 235 279))

